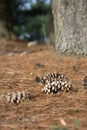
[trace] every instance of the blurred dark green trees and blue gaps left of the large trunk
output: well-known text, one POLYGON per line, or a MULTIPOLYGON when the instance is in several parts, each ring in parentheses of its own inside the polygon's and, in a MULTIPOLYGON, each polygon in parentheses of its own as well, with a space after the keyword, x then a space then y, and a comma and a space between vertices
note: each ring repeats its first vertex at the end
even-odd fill
POLYGON ((0 0, 0 38, 46 42, 50 0, 0 0))

